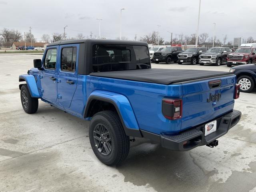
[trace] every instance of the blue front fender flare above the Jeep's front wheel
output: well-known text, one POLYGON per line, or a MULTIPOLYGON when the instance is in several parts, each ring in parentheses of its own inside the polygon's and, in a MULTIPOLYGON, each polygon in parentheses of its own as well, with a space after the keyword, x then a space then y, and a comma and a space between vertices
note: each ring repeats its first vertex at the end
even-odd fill
MULTIPOLYGON (((31 97, 40 98, 38 88, 36 86, 36 79, 33 75, 30 75, 30 74, 20 75, 19 82, 26 82, 31 97)), ((23 84, 19 84, 19 89, 21 89, 23 84)))

